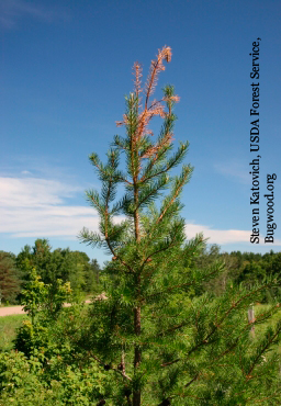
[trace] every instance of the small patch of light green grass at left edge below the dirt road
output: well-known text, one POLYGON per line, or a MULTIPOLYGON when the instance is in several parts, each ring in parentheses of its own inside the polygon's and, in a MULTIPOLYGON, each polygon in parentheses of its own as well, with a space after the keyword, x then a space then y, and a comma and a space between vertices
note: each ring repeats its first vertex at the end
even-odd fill
POLYGON ((12 349, 12 340, 15 338, 16 328, 26 318, 27 316, 22 314, 0 317, 0 351, 12 349))

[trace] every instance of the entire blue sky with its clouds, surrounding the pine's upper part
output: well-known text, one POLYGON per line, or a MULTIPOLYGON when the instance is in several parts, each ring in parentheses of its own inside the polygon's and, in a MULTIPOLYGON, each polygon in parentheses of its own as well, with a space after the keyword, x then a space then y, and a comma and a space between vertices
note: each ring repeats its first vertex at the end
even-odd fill
MULTIPOLYGON (((85 190, 99 188, 88 161, 123 134, 132 66, 164 45, 159 77, 180 95, 175 144, 188 139, 194 166, 182 194, 187 237, 203 232, 223 251, 281 248, 280 15, 278 1, 0 0, 0 249, 36 238, 86 251, 77 240, 98 217, 85 190), (249 162, 251 44, 260 42, 260 244, 252 228, 249 162), (266 179, 274 181, 274 244, 267 233, 266 179)), ((158 97, 160 92, 158 90, 158 97)))

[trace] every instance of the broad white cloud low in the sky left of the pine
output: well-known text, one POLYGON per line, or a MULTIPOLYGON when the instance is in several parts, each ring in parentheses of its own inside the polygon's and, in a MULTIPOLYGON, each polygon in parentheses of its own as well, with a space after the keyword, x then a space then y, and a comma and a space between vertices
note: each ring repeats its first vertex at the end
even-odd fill
POLYGON ((81 188, 37 178, 0 178, 0 233, 11 237, 76 238, 86 226, 98 229, 92 207, 67 205, 81 188))

